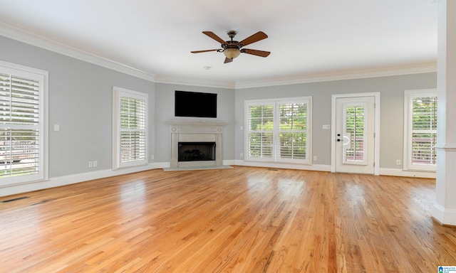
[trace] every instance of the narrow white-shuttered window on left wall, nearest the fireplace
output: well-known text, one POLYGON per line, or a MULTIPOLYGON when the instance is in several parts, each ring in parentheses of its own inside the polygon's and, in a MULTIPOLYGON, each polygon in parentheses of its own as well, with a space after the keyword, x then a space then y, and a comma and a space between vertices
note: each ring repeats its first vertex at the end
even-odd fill
POLYGON ((147 94, 113 87, 113 168, 147 164, 147 94))

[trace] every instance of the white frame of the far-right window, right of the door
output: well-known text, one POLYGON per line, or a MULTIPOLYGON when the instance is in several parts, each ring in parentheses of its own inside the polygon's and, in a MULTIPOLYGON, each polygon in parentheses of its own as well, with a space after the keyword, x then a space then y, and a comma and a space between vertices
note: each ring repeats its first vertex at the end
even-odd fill
POLYGON ((437 97, 437 89, 405 90, 404 93, 404 151, 403 168, 409 171, 435 171, 435 164, 412 164, 413 98, 437 97))

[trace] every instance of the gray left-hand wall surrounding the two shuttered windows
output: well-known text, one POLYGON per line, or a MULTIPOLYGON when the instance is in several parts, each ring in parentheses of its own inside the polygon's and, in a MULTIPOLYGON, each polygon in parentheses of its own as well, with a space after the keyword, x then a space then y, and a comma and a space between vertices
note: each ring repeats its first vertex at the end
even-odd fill
MULTIPOLYGON (((113 86, 147 93, 155 105, 153 82, 2 36, 0 45, 0 60, 49 72, 50 178, 111 168, 113 86), (98 167, 88 168, 88 161, 98 161, 98 167)), ((153 109, 149 119, 153 136, 153 109)), ((149 152, 154 153, 153 137, 149 152)))

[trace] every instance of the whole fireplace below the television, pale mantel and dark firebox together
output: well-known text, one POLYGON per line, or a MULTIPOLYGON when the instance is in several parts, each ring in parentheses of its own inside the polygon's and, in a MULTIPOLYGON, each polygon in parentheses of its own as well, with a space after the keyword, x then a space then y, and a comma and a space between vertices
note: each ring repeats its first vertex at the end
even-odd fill
POLYGON ((171 168, 223 165, 222 133, 227 122, 168 120, 167 124, 170 125, 171 134, 171 168), (196 144, 208 144, 212 146, 212 150, 195 147, 196 144), (189 146, 187 154, 182 156, 180 145, 193 147, 189 146), (211 154, 210 159, 202 157, 202 154, 207 156, 207 153, 211 154))

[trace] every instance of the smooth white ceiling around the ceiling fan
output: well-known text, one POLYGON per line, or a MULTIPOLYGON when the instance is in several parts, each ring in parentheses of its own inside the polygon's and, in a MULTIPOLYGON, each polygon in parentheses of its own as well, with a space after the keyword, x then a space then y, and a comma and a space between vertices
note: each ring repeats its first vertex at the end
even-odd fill
POLYGON ((0 0, 0 21, 157 77, 249 82, 435 63, 437 2, 0 0), (271 55, 190 53, 219 48, 202 31, 229 30, 264 31, 248 48, 271 55))

